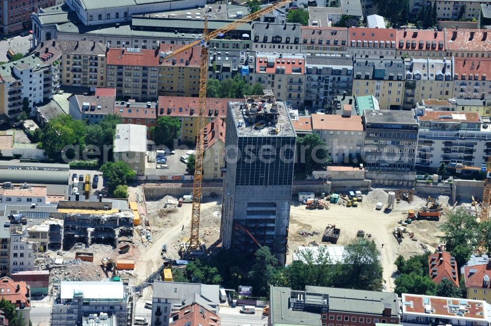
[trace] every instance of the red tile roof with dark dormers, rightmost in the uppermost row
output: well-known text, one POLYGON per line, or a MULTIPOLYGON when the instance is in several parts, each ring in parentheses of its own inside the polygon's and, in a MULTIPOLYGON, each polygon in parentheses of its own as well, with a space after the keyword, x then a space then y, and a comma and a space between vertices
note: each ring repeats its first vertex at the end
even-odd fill
POLYGON ((491 33, 486 29, 444 28, 447 51, 491 51, 491 33))

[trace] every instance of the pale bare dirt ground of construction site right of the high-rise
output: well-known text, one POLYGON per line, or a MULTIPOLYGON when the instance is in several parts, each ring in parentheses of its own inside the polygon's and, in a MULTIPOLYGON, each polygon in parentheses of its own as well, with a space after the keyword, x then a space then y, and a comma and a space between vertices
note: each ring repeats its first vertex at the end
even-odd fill
MULTIPOLYGON (((293 253, 299 246, 308 246, 309 242, 313 240, 321 246, 343 246, 350 243, 356 237, 356 232, 361 229, 365 231, 365 237, 370 233, 372 235, 370 239, 373 239, 378 245, 381 252, 385 288, 386 291, 392 291, 396 257, 401 254, 409 258, 411 255, 423 253, 423 247, 433 251, 438 245, 438 235, 443 234, 439 231, 439 226, 445 221, 445 217, 440 218, 439 222, 413 222, 407 226, 407 230, 414 232, 417 241, 410 240, 408 234, 405 234, 402 243, 398 244, 392 234, 394 227, 401 226, 398 221, 406 219, 408 209, 417 210, 425 204, 426 197, 422 199, 414 196, 414 200, 410 204, 406 201, 396 203, 390 213, 385 213, 383 208, 380 211, 375 209, 378 201, 382 201, 385 205, 387 199, 387 193, 381 189, 376 189, 364 196, 363 201, 358 203, 358 207, 330 204, 329 210, 307 210, 304 204, 295 201, 290 215, 287 263, 292 261, 293 253), (328 224, 334 224, 341 229, 336 245, 322 243, 322 234, 328 224), (300 230, 312 230, 320 234, 303 237, 299 235, 300 230), (383 248, 382 244, 384 245, 383 248)), ((443 206, 448 203, 448 198, 443 196, 440 196, 438 200, 443 203, 443 206)), ((339 202, 342 203, 343 201, 340 200, 339 202)))

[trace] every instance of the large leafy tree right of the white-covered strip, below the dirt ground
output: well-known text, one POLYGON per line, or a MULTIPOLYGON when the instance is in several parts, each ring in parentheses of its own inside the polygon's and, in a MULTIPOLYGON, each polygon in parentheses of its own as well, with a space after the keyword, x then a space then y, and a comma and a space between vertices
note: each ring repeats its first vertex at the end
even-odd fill
POLYGON ((349 286, 360 290, 382 290, 382 265, 377 245, 356 238, 344 250, 345 279, 349 286))

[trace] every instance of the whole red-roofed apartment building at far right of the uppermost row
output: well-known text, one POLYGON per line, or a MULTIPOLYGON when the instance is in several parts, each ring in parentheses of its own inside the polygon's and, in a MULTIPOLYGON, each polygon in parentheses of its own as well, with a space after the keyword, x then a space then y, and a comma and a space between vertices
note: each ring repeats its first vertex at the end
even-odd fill
POLYGON ((445 35, 445 57, 491 57, 491 34, 488 36, 487 29, 444 28, 443 33, 445 35))

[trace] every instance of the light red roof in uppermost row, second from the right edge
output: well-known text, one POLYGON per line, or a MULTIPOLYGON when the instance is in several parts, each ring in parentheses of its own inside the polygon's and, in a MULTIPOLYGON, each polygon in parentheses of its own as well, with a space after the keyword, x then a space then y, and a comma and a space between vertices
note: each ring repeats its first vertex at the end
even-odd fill
POLYGON ((397 31, 397 49, 441 51, 444 46, 443 32, 419 29, 397 31))

